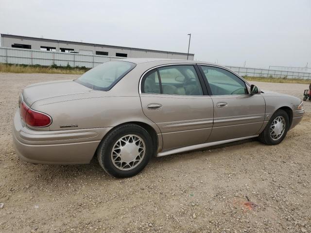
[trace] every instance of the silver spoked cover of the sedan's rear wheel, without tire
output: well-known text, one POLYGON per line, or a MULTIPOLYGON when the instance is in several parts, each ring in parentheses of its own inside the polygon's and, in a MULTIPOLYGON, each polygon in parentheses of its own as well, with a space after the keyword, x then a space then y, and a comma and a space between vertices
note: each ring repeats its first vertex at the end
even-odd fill
POLYGON ((112 147, 111 161, 122 171, 137 167, 145 156, 144 141, 135 134, 122 136, 112 147))

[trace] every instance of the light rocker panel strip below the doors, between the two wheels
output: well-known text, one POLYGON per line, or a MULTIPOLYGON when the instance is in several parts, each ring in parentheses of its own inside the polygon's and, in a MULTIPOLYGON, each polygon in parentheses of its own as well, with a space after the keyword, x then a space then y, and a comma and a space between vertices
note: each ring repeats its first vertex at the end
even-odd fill
POLYGON ((201 149, 201 148, 217 146, 217 145, 235 142, 235 141, 240 141, 240 140, 245 140, 245 139, 249 139, 249 138, 253 138, 253 137, 258 137, 258 135, 227 139, 227 140, 217 141, 217 142, 207 142, 207 143, 188 146, 188 147, 166 150, 166 151, 162 151, 162 152, 157 153, 157 155, 155 157, 162 157, 162 156, 166 156, 166 155, 170 155, 170 154, 177 154, 177 153, 182 153, 182 152, 186 152, 186 151, 190 151, 190 150, 197 150, 197 149, 201 149))

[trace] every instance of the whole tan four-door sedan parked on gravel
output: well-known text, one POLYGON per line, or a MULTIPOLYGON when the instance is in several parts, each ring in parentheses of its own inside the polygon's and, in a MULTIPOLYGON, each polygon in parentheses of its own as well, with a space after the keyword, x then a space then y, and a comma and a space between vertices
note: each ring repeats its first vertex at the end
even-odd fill
POLYGON ((115 177, 159 157, 258 137, 280 143, 301 120, 298 98, 260 91, 215 64, 125 59, 76 80, 37 83, 14 117, 17 154, 35 164, 86 164, 115 177))

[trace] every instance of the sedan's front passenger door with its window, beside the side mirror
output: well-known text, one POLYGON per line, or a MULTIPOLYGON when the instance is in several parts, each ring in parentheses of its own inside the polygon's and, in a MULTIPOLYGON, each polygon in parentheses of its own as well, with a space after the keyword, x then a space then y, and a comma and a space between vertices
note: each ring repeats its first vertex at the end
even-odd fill
POLYGON ((214 104, 208 142, 256 135, 265 118, 265 100, 249 94, 247 84, 222 67, 199 66, 214 104))

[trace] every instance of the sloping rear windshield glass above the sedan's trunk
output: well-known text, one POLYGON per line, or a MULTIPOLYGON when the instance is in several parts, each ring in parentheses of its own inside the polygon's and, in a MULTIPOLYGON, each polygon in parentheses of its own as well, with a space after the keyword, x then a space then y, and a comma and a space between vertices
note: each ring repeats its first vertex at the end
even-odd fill
POLYGON ((75 82, 94 90, 108 91, 136 65, 131 62, 105 62, 90 69, 75 82))

